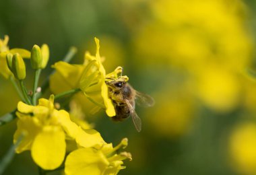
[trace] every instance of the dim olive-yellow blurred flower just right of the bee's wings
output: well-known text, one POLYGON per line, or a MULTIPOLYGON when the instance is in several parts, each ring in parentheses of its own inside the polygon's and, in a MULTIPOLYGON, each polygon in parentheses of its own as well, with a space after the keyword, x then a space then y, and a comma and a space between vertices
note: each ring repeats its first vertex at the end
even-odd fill
POLYGON ((145 114, 149 116, 149 124, 155 133, 171 139, 187 133, 191 128, 196 106, 186 86, 176 90, 162 90, 155 96, 156 105, 145 114))

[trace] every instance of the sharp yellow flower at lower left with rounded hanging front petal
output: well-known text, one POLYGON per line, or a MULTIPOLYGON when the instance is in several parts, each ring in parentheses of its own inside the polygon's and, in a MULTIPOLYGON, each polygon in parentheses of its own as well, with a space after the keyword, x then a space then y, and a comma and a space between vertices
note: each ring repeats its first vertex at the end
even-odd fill
POLYGON ((61 165, 66 153, 65 139, 75 140, 84 147, 101 146, 105 142, 94 130, 82 130, 71 122, 69 113, 56 110, 54 96, 49 100, 41 98, 38 106, 18 103, 18 129, 14 143, 22 133, 25 137, 16 148, 17 153, 31 150, 32 158, 45 170, 53 170, 61 165))

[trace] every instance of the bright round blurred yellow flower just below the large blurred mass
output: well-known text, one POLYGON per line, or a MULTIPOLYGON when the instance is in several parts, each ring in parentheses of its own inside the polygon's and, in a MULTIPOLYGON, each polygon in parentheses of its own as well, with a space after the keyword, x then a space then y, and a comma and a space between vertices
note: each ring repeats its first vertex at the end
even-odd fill
POLYGON ((208 65, 197 73, 195 94, 203 104, 218 112, 228 112, 238 106, 244 84, 241 85, 235 73, 220 65, 208 65))

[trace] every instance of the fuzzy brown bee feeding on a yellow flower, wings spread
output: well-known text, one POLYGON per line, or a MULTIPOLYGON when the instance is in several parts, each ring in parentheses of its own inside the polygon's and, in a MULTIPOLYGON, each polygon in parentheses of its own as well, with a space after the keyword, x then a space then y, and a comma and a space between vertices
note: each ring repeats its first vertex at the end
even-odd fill
POLYGON ((106 85, 108 85, 108 96, 115 106, 116 115, 112 117, 113 120, 123 121, 131 116, 135 129, 140 132, 141 119, 135 112, 135 104, 150 107, 154 105, 154 99, 134 90, 122 77, 106 81, 106 85))

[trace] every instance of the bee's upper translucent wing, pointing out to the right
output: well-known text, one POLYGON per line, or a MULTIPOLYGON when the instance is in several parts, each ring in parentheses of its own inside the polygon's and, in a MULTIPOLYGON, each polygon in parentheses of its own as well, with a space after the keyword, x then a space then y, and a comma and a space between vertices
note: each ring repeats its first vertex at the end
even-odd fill
POLYGON ((147 94, 143 94, 137 91, 136 91, 135 100, 136 100, 136 104, 142 107, 151 107, 151 106, 154 106, 155 104, 154 98, 152 98, 147 94))

